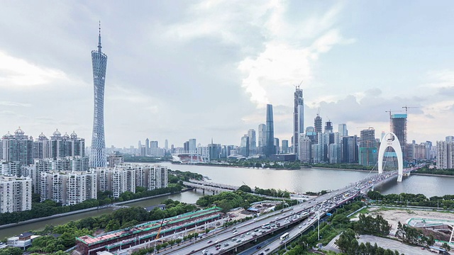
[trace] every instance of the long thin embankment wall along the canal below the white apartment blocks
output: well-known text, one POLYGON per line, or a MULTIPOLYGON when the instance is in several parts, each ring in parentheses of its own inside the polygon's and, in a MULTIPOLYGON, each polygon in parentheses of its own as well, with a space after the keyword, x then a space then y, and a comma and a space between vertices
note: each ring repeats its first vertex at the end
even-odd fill
MULTIPOLYGON (((191 191, 192 189, 193 188, 184 188, 184 189, 182 189, 182 191, 176 192, 176 193, 173 193, 173 194, 182 193, 182 192, 185 192, 185 191, 191 191)), ((18 225, 26 225, 26 224, 33 223, 33 222, 40 222, 40 221, 43 221, 43 220, 50 220, 50 219, 55 219, 55 218, 58 218, 58 217, 63 217, 63 216, 68 216, 68 215, 76 215, 76 214, 83 213, 83 212, 90 212, 90 211, 94 211, 94 210, 104 210, 106 208, 114 207, 115 205, 124 205, 126 203, 134 203, 134 202, 138 202, 138 201, 142 201, 142 200, 160 198, 162 196, 169 196, 169 195, 172 195, 172 193, 164 193, 164 194, 159 194, 159 195, 156 195, 156 196, 150 196, 150 197, 146 197, 146 198, 137 198, 137 199, 133 199, 133 200, 117 202, 117 203, 113 203, 111 205, 98 206, 96 208, 87 208, 87 209, 82 209, 82 210, 77 210, 77 211, 72 211, 72 212, 59 213, 57 215, 39 217, 39 218, 31 219, 31 220, 24 220, 22 222, 1 225, 0 229, 7 229, 9 227, 16 227, 18 225)))

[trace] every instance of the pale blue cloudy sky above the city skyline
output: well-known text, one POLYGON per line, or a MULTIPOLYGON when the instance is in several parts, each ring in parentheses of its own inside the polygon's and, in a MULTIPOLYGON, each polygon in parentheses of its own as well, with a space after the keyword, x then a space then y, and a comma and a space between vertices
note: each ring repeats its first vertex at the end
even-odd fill
POLYGON ((106 147, 146 138, 239 145, 274 108, 291 141, 304 127, 389 131, 409 108, 408 140, 454 135, 453 1, 6 1, 0 8, 0 134, 56 129, 92 140, 91 51, 108 56, 106 147), (399 112, 403 111, 403 112, 399 112), (1 133, 3 132, 3 133, 1 133))

